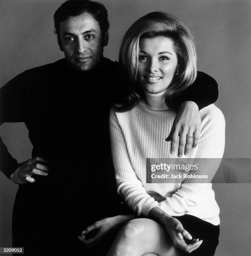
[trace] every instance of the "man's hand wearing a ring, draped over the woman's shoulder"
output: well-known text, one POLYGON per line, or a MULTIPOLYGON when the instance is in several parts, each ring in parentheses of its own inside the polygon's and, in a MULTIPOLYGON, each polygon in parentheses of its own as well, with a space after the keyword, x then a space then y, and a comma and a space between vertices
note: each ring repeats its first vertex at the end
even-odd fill
POLYGON ((198 106, 193 101, 185 101, 180 105, 179 111, 172 124, 172 130, 166 141, 171 141, 171 154, 174 154, 179 137, 178 157, 188 155, 193 142, 196 148, 200 136, 201 118, 198 106), (189 137, 189 138, 188 138, 189 137))

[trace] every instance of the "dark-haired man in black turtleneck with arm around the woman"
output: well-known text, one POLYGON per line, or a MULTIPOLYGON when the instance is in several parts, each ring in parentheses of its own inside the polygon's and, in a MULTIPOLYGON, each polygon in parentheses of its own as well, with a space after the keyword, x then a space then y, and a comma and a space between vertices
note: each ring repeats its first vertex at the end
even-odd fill
MULTIPOLYGON (((85 227, 115 215, 117 226, 131 218, 120 215, 127 211, 116 194, 109 144, 109 110, 119 100, 125 79, 118 64, 103 57, 109 28, 103 5, 66 1, 54 21, 65 58, 25 71, 0 90, 0 123, 25 122, 33 144, 32 159, 18 164, 0 140, 0 170, 20 184, 13 246, 24 246, 32 254, 87 253, 77 238, 85 227)), ((194 134, 193 146, 198 143, 199 125, 186 125, 187 120, 198 120, 198 106, 217 96, 216 82, 203 73, 180 96, 177 104, 188 102, 180 105, 169 136, 172 149, 180 136, 179 155, 192 144, 188 133, 194 134)), ((114 225, 114 219, 109 221, 114 225)), ((84 243, 95 237, 86 233, 84 243)), ((110 242, 107 238, 107 248, 110 242)), ((106 249, 90 253, 101 255, 106 249)))

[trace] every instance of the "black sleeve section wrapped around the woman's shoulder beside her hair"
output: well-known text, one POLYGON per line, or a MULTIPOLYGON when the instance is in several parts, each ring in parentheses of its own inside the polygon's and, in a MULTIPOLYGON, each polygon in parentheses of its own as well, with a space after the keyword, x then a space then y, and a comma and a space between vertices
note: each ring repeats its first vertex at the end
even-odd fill
POLYGON ((188 87, 177 101, 180 103, 191 100, 194 101, 199 109, 216 102, 218 99, 218 84, 213 77, 210 77, 204 72, 197 72, 197 77, 194 83, 188 87))

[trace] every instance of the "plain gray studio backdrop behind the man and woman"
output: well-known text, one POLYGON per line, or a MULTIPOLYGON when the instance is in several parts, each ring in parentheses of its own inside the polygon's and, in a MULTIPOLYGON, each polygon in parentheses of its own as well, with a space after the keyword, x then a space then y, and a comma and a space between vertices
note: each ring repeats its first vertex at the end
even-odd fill
MULTIPOLYGON (((53 34, 53 13, 63 0, 0 1, 0 87, 15 75, 63 57, 53 34)), ((103 0, 109 11, 110 41, 104 55, 117 60, 119 42, 134 20, 155 10, 176 15, 194 35, 198 69, 219 85, 216 105, 226 118, 226 158, 251 153, 251 1, 103 0)), ((109 74, 111 75, 111 74, 109 74)), ((203 84, 202 84, 203 86, 203 84)), ((46 102, 45 102, 46 104, 46 102)), ((21 123, 0 133, 19 161, 30 158, 21 123)), ((213 184, 221 208, 218 256, 250 255, 250 184, 213 184)), ((11 245, 11 215, 17 185, 0 173, 0 246, 11 245)))

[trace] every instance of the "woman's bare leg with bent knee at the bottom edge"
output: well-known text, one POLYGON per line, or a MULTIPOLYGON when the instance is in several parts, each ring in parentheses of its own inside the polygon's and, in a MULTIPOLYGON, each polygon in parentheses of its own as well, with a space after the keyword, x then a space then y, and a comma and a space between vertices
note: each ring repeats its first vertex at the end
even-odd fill
POLYGON ((172 245, 167 231, 154 220, 130 220, 119 230, 107 256, 141 256, 155 253, 158 256, 180 256, 182 251, 172 245))

